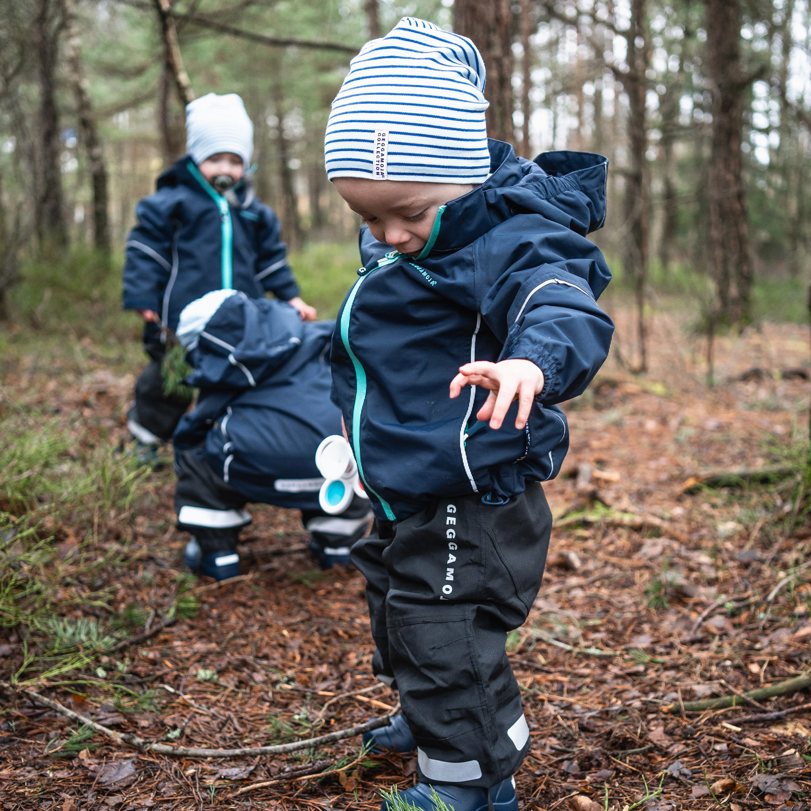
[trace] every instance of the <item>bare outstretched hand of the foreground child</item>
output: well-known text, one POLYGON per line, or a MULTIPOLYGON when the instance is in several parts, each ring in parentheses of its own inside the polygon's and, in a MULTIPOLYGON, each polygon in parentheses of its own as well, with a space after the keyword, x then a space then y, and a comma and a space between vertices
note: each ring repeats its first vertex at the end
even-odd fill
POLYGON ((476 418, 489 419, 494 430, 501 427, 510 404, 517 400, 515 427, 521 431, 530 416, 533 398, 543 390, 543 371, 532 361, 521 358, 499 363, 480 360, 459 367, 459 374, 451 380, 451 399, 459 397, 462 388, 468 385, 490 390, 476 418))

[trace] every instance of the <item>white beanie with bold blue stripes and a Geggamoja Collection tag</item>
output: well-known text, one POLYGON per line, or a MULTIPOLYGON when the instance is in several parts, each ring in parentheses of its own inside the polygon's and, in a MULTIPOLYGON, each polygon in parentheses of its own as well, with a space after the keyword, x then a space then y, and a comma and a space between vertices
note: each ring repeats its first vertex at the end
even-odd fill
POLYGON ((484 81, 469 39, 403 17, 350 62, 327 122, 328 178, 484 182, 484 81))

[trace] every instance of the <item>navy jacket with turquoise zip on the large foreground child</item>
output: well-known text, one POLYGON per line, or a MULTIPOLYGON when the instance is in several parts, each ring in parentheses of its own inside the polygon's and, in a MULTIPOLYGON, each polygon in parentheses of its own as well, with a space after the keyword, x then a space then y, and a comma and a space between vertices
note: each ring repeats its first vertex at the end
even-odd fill
MULTIPOLYGON (((360 234, 360 278, 333 336, 333 401, 379 518, 442 496, 522 492, 556 476, 569 447, 556 405, 582 393, 613 324, 596 298, 611 279, 586 234, 603 225, 607 160, 546 152, 534 162, 490 140, 491 176, 440 208, 414 258, 360 234), (487 399, 448 385, 463 363, 526 358, 543 371, 524 431, 517 403, 492 431, 487 399)), ((492 496, 491 496, 492 498, 492 496)))

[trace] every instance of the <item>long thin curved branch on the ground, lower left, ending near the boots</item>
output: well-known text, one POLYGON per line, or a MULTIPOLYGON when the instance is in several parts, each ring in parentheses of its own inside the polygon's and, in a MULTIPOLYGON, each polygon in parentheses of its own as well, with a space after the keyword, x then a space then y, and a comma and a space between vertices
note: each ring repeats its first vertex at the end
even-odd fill
POLYGON ((63 715, 65 718, 71 719, 71 721, 84 723, 85 726, 90 727, 96 732, 101 732, 102 735, 107 736, 110 740, 114 740, 117 744, 127 744, 143 752, 157 752, 164 755, 173 755, 174 757, 250 757, 253 755, 277 755, 288 752, 298 752, 299 749, 313 749, 316 746, 335 743, 337 740, 354 738, 354 736, 363 735, 364 732, 372 732, 375 729, 380 729, 380 727, 388 727, 389 723, 391 723, 390 719, 392 715, 399 710, 398 705, 390 713, 380 718, 372 719, 366 723, 358 723, 354 727, 341 729, 337 732, 330 732, 328 735, 322 735, 317 738, 296 740, 291 744, 246 746, 242 749, 194 749, 185 746, 154 744, 137 735, 132 735, 129 732, 116 732, 114 729, 102 726, 101 723, 96 723, 86 715, 68 710, 66 706, 63 706, 59 702, 54 702, 50 698, 41 695, 41 693, 36 693, 35 690, 22 687, 19 684, 10 684, 7 681, 0 680, 0 687, 12 693, 23 693, 25 696, 28 696, 32 702, 36 702, 36 704, 40 706, 49 707, 49 709, 58 712, 58 714, 63 715))

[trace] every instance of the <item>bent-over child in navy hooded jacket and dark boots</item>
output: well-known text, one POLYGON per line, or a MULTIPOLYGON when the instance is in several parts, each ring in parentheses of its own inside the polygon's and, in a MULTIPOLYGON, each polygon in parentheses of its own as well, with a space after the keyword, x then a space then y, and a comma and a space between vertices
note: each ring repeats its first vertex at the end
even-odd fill
POLYGON ((367 533, 365 495, 340 513, 319 503, 315 452, 341 434, 326 360, 333 328, 236 290, 212 291, 182 311, 178 341, 194 369, 187 382, 200 394, 173 437, 174 503, 178 529, 192 535, 185 561, 193 571, 217 580, 239 573, 249 502, 301 510, 322 569, 349 564, 350 547, 367 533))

